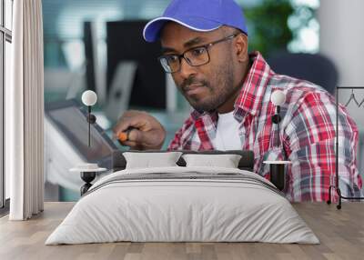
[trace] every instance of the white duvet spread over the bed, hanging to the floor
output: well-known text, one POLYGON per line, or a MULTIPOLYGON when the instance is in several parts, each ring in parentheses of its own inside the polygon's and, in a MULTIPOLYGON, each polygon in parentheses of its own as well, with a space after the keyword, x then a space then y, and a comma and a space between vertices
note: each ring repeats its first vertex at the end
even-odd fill
POLYGON ((217 167, 128 169, 107 175, 76 203, 45 245, 116 241, 319 243, 266 179, 217 167), (139 178, 159 173, 157 179, 139 178), (207 178, 198 177, 202 175, 207 178))

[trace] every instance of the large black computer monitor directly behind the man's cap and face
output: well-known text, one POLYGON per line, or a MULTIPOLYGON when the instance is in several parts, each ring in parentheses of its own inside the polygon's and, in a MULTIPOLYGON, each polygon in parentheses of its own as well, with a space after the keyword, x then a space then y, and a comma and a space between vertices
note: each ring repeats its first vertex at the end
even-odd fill
MULTIPOLYGON (((143 28, 147 21, 106 23, 107 91, 116 77, 120 63, 136 63, 129 106, 166 109, 166 75, 157 61, 160 44, 147 43, 143 28)), ((120 85, 125 82, 120 82, 120 85)), ((125 88, 124 88, 125 92, 125 88)), ((120 93, 123 95, 123 88, 120 93)))

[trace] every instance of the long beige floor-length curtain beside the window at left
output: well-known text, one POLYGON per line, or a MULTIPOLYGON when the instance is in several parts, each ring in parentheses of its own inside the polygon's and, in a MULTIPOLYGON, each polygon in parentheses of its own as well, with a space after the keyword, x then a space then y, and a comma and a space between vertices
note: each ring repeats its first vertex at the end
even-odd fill
POLYGON ((5 170, 11 220, 44 206, 44 65, 41 0, 14 1, 11 87, 5 90, 5 170))

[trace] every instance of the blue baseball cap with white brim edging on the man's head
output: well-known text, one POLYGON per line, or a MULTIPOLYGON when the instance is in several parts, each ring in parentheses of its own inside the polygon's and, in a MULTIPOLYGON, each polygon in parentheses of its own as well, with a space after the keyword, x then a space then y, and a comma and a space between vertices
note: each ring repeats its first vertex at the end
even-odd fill
POLYGON ((157 41, 167 22, 176 22, 197 32, 209 32, 227 25, 248 35, 243 10, 233 0, 173 0, 162 16, 144 27, 146 41, 157 41))

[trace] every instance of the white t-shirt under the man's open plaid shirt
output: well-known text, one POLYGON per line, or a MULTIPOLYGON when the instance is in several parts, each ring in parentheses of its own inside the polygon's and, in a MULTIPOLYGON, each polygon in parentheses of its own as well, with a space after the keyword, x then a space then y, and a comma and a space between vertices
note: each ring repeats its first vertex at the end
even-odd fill
MULTIPOLYGON (((234 118, 234 111, 226 114, 218 114, 217 133, 211 140, 216 150, 241 150, 240 136, 238 135, 239 123, 234 118)), ((194 141, 200 143, 197 132, 194 141)))

